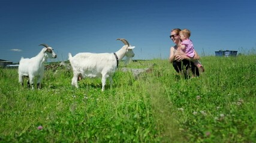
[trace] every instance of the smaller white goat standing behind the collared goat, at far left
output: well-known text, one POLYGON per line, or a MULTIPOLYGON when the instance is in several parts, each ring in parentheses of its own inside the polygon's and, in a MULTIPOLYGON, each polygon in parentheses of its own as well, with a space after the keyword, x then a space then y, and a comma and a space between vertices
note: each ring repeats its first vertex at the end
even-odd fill
POLYGON ((44 46, 41 52, 37 56, 32 58, 21 58, 19 63, 19 83, 23 86, 23 79, 29 77, 28 86, 30 83, 32 89, 34 89, 34 80, 37 77, 37 88, 41 88, 41 81, 44 76, 44 61, 47 58, 56 58, 57 55, 53 52, 53 48, 43 43, 40 44, 44 46))

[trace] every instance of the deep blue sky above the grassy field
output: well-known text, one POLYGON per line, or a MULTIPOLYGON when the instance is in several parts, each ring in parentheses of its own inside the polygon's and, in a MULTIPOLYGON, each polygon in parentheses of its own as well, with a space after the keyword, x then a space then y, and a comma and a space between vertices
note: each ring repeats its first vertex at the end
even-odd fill
POLYGON ((0 1, 0 59, 19 62, 41 51, 41 43, 66 61, 68 52, 116 52, 125 38, 134 59, 167 59, 170 30, 191 30, 195 50, 249 51, 256 46, 256 2, 236 0, 44 0, 0 1))

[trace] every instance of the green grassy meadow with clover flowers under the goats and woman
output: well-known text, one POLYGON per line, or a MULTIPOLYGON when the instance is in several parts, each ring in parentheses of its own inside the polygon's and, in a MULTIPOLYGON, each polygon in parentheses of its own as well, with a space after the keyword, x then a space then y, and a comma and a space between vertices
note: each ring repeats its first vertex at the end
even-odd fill
POLYGON ((0 142, 256 142, 256 55, 201 61, 192 79, 168 60, 132 62, 156 66, 138 79, 117 71, 104 92, 100 79, 74 88, 61 67, 46 70, 40 90, 0 69, 0 142))

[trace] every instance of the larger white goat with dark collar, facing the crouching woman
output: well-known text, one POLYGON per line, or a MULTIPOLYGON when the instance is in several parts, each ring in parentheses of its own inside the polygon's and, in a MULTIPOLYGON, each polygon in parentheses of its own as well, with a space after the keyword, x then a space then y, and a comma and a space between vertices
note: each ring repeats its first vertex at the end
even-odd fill
POLYGON ((128 60, 129 58, 134 57, 132 49, 135 48, 135 46, 129 45, 128 41, 125 39, 116 40, 122 41, 125 45, 115 53, 95 54, 81 52, 74 57, 69 53, 68 57, 74 74, 71 85, 78 88, 77 80, 80 80, 80 77, 102 77, 101 91, 104 91, 106 79, 109 77, 110 86, 112 86, 112 76, 118 68, 119 60, 122 60, 125 56, 128 57, 128 60))

